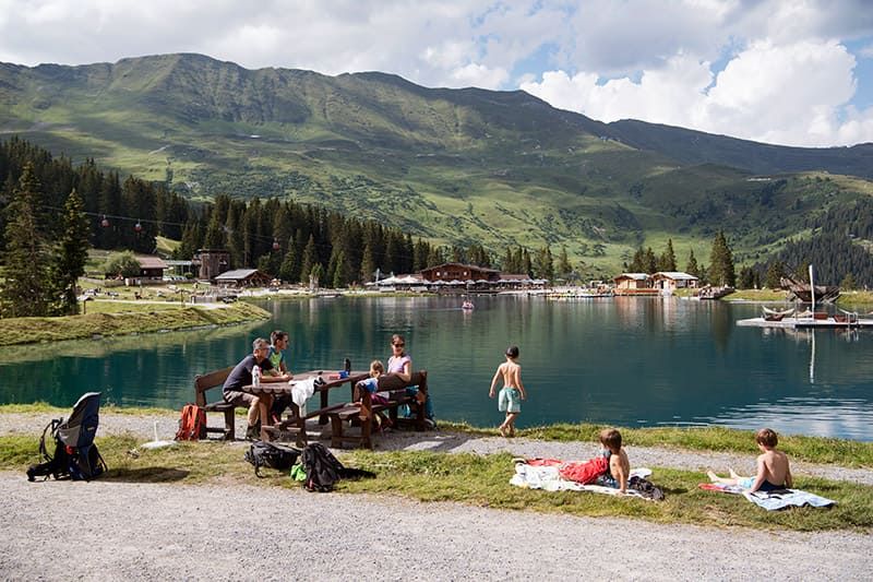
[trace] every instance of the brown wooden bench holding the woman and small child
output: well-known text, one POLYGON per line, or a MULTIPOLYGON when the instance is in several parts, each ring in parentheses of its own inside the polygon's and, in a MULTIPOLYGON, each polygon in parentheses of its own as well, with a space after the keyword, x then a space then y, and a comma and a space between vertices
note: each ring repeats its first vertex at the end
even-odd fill
MULTIPOLYGON (((392 424, 398 427, 406 418, 398 418, 398 409, 402 405, 415 406, 416 415, 410 419, 416 430, 424 430, 424 405, 419 404, 415 394, 408 394, 406 389, 409 387, 418 387, 418 391, 428 396, 428 372, 420 370, 412 372, 411 379, 408 382, 403 382, 396 376, 390 375, 382 381, 380 378, 379 392, 388 394, 388 402, 383 404, 374 404, 372 395, 367 390, 362 394, 355 394, 354 401, 348 404, 340 404, 333 406, 332 409, 326 411, 327 417, 331 419, 331 447, 342 448, 344 442, 354 442, 360 447, 372 449, 372 433, 375 415, 384 411, 388 412, 388 418, 392 424), (350 435, 345 431, 346 423, 360 424, 360 433, 350 435)), ((316 411, 320 412, 320 411, 316 411)), ((314 415, 315 413, 313 413, 314 415)))

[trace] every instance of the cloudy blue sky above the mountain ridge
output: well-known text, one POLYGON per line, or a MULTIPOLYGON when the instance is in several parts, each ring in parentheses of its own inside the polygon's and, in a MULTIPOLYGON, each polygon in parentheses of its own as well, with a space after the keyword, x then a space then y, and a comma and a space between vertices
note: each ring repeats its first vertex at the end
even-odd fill
POLYGON ((873 142, 865 0, 0 0, 0 61, 200 52, 255 69, 522 88, 601 121, 873 142))

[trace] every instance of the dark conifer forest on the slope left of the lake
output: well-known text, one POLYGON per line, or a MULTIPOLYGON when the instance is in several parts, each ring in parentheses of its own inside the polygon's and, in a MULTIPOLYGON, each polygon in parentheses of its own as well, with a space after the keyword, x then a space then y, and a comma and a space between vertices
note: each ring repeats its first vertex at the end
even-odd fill
MULTIPOLYGON (((76 216, 76 228, 81 228, 76 235, 81 235, 80 254, 88 246, 154 253, 156 237, 163 236, 181 240, 174 252, 177 259, 189 260, 199 249, 226 249, 232 269, 258 268, 287 282, 316 278, 328 287, 372 281, 378 272, 411 273, 446 261, 502 265, 503 271, 548 280, 554 276, 548 246, 533 256, 521 246, 507 247, 504 256, 497 257, 480 244, 435 246, 373 221, 290 200, 246 202, 222 194, 213 202, 193 203, 164 182, 134 176, 122 179, 116 171, 99 169, 93 159, 74 166, 19 138, 0 142, 0 258, 8 278, 19 264, 24 242, 32 245, 28 260, 38 259, 40 264, 55 261, 52 249, 58 245, 73 245, 62 242, 70 226, 58 219, 68 213, 76 216), (25 217, 31 222, 25 224, 25 217)), ((563 258, 566 263, 565 251, 563 258)), ((38 269, 34 273, 29 285, 49 276, 38 269)), ((17 281, 24 285, 24 278, 17 281)), ((71 289, 74 293, 74 286, 71 289)), ((73 305, 71 300, 58 309, 69 311, 73 305)), ((46 306, 31 314, 56 311, 46 306)))

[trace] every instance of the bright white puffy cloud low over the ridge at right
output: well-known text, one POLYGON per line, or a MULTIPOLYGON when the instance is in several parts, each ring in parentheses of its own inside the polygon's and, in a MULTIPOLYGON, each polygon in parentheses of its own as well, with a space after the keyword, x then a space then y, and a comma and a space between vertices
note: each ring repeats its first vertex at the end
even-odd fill
POLYGON ((634 118, 768 143, 823 146, 873 141, 871 111, 847 109, 856 92, 854 64, 836 41, 756 43, 717 75, 708 62, 679 55, 643 72, 638 82, 621 78, 598 84, 596 73, 552 71, 522 88, 601 121, 634 118))

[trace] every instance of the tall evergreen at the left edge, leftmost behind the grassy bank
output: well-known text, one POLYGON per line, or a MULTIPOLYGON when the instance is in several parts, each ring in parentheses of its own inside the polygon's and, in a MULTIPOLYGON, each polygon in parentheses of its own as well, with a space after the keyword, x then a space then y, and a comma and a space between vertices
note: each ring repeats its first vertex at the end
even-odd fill
POLYGON ((39 317, 48 314, 48 254, 36 209, 41 187, 27 163, 7 206, 4 230, 7 248, 0 308, 3 317, 39 317))

